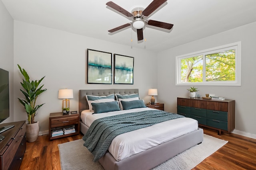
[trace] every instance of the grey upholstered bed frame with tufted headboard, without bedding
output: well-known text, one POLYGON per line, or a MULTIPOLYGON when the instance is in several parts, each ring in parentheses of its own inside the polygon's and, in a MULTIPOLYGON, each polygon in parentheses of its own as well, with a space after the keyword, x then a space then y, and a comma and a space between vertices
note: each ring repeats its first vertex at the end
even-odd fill
MULTIPOLYGON (((89 123, 83 122, 84 121, 83 114, 89 109, 89 105, 86 100, 86 95, 108 96, 110 94, 121 94, 121 95, 138 94, 138 89, 79 90, 79 113, 81 114, 80 131, 83 134, 86 134, 90 124, 93 121, 93 120, 90 120, 91 122, 89 123)), ((149 109, 149 108, 147 107, 144 109, 149 109)), ((179 119, 182 119, 182 118, 179 118, 179 119)), ((186 118, 186 119, 188 119, 189 121, 192 121, 190 120, 190 118, 186 118)), ((156 126, 158 126, 158 124, 156 126)), ((186 129, 186 128, 178 127, 178 129, 186 129)), ((163 136, 169 137, 171 135, 163 135, 163 136)), ((170 139, 169 141, 168 140, 164 141, 164 143, 154 145, 144 150, 142 149, 142 151, 136 154, 131 154, 127 158, 126 157, 122 158, 122 156, 121 157, 115 156, 113 154, 113 150, 109 149, 106 152, 106 154, 104 154, 104 156, 102 156, 99 159, 99 162, 106 170, 128 170, 128 169, 148 170, 172 158, 176 154, 196 144, 201 143, 203 141, 203 130, 198 128, 198 125, 197 125, 196 129, 192 130, 191 132, 189 133, 185 132, 185 134, 182 134, 178 137, 174 136, 172 138, 173 139, 170 139)), ((163 139, 163 140, 166 140, 166 139, 163 139)))

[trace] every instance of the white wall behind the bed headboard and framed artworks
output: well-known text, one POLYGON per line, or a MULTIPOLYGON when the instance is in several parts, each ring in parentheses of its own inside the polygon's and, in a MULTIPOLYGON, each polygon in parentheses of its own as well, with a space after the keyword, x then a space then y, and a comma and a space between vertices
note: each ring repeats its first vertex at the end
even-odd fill
POLYGON ((20 92, 22 75, 17 64, 28 72, 32 80, 46 76, 42 84, 48 90, 37 101, 38 104, 46 104, 39 109, 35 118, 40 122, 40 132, 45 133, 48 131, 49 114, 61 111, 59 89, 73 89, 71 110, 78 110, 80 89, 138 88, 140 98, 149 102, 148 89, 157 86, 157 74, 150 72, 156 63, 156 53, 144 49, 14 21, 14 121, 27 119, 24 107, 17 99, 23 97, 20 92), (86 84, 86 49, 134 57, 134 84, 86 84))

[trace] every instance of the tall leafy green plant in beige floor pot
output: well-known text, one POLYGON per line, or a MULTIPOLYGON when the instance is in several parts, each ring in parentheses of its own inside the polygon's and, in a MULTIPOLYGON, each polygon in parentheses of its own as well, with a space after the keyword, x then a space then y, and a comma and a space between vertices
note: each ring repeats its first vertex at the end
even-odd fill
POLYGON ((39 84, 42 82, 45 76, 41 78, 39 81, 30 81, 28 73, 23 68, 21 68, 19 64, 18 67, 25 79, 23 79, 23 82, 20 82, 21 86, 24 88, 24 90, 20 89, 20 91, 24 94, 26 99, 23 100, 18 98, 18 100, 25 107, 28 116, 28 124, 26 125, 26 139, 28 142, 34 142, 36 141, 39 134, 39 122, 35 122, 35 116, 37 114, 36 111, 44 105, 36 105, 36 99, 40 94, 47 90, 42 89, 44 84, 39 87, 39 84))

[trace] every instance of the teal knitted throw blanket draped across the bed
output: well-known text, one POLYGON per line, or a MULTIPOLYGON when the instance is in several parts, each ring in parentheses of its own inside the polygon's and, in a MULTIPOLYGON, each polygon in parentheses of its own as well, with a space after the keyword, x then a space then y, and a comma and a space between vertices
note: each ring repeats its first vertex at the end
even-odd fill
POLYGON ((147 110, 96 119, 83 137, 84 146, 92 152, 94 161, 97 161, 106 153, 117 135, 180 117, 184 116, 161 110, 147 110))

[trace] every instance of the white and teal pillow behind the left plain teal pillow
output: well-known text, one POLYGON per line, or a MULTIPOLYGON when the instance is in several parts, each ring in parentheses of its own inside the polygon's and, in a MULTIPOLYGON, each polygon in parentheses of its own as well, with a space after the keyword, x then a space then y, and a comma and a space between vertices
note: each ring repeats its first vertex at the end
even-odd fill
POLYGON ((92 103, 102 103, 102 102, 114 102, 115 101, 115 95, 110 94, 108 96, 91 96, 86 95, 86 100, 88 102, 88 106, 90 111, 93 111, 92 103))

